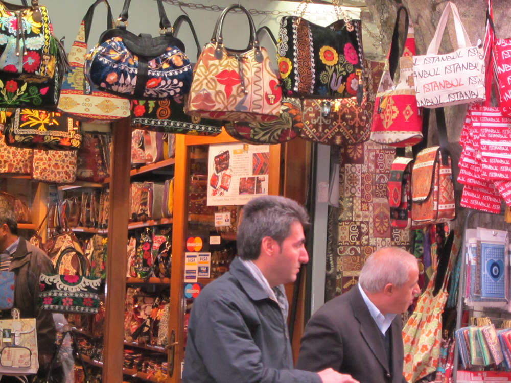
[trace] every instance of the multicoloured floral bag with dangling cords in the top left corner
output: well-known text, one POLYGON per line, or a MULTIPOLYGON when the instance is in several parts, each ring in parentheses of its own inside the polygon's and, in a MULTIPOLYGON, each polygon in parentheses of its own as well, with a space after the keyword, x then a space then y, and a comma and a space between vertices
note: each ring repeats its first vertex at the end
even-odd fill
POLYGON ((22 8, 22 12, 19 12, 19 6, 12 11, 7 7, 8 3, 0 4, 2 79, 8 76, 39 80, 52 78, 57 48, 52 40, 53 28, 46 7, 22 8))

